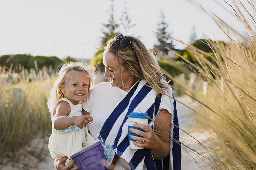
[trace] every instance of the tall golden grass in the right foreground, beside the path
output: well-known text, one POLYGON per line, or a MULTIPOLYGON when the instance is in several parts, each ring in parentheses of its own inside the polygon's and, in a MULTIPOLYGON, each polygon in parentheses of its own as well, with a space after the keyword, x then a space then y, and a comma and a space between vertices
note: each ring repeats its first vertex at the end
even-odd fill
MULTIPOLYGON (((187 50, 195 55, 199 65, 181 58, 196 68, 196 84, 179 84, 179 90, 200 103, 197 109, 200 125, 211 133, 208 152, 212 169, 256 169, 256 2, 228 1, 231 12, 243 24, 239 32, 215 15, 219 28, 228 42, 208 39, 214 55, 211 56, 193 46, 187 50), (246 7, 245 7, 246 6, 246 7), (250 9, 248 9, 250 8, 250 9), (249 12, 250 11, 250 12, 249 12), (205 59, 209 55, 217 66, 205 59)), ((182 43, 182 42, 181 42, 182 43)), ((177 88, 174 87, 173 88, 177 88)))

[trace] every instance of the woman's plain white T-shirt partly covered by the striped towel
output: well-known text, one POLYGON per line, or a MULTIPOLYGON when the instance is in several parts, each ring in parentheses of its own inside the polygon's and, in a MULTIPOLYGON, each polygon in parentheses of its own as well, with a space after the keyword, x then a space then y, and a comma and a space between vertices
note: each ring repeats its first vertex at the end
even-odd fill
MULTIPOLYGON (((119 87, 112 87, 110 83, 111 82, 101 82, 95 85, 89 91, 87 98, 82 102, 82 108, 93 117, 93 124, 98 131, 120 100, 128 93, 119 87)), ((159 111, 161 109, 166 109, 169 113, 173 114, 170 99, 166 95, 162 95, 159 111)), ((91 124, 89 124, 89 131, 91 136, 94 138, 98 137, 98 131, 91 124)), ((130 165, 126 160, 118 157, 115 170, 121 169, 130 170, 130 165)))

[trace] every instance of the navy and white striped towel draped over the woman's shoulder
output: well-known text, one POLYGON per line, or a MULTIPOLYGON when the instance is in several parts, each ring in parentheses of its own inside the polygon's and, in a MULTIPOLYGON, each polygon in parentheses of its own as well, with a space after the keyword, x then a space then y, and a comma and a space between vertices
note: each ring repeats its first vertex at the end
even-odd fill
MULTIPOLYGON (((155 91, 147 85, 145 80, 139 80, 133 85, 102 125, 101 137, 105 144, 111 145, 117 155, 129 163, 132 170, 180 170, 180 143, 170 140, 170 153, 162 160, 154 160, 150 149, 136 150, 129 147, 127 115, 130 112, 142 112, 155 120, 159 111, 162 95, 156 97, 155 91)), ((168 86, 168 88, 168 95, 172 96, 171 87, 168 86)), ((170 100, 173 103, 170 122, 178 126, 176 102, 172 98, 170 100)), ((153 121, 149 120, 148 124, 154 127, 153 121)), ((179 129, 173 124, 171 124, 170 136, 179 141, 179 129)))

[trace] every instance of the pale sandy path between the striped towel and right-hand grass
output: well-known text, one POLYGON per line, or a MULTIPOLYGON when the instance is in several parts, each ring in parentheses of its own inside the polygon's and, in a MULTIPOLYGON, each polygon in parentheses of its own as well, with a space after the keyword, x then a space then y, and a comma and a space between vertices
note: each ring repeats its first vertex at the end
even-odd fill
MULTIPOLYGON (((189 97, 177 97, 176 100, 186 104, 187 106, 193 109, 198 106, 198 104, 196 102, 192 102, 189 97)), ((197 114, 179 102, 177 102, 176 106, 177 106, 177 113, 179 117, 179 127, 185 132, 187 132, 189 135, 193 136, 203 145, 208 146, 207 144, 208 134, 202 130, 200 131, 200 129, 196 125, 196 122, 193 119, 193 117, 197 116, 197 114)), ((195 139, 193 139, 191 136, 189 136, 185 132, 180 130, 180 137, 181 137, 180 141, 184 143, 186 146, 190 147, 191 149, 194 149, 201 155, 207 157, 209 151, 207 151, 207 149, 199 145, 195 139)), ((206 159, 204 159, 203 156, 200 156, 199 154, 192 151, 191 149, 185 146, 182 147, 181 169, 182 170, 200 170, 200 169, 210 170, 211 169, 210 166, 205 162, 206 159)))

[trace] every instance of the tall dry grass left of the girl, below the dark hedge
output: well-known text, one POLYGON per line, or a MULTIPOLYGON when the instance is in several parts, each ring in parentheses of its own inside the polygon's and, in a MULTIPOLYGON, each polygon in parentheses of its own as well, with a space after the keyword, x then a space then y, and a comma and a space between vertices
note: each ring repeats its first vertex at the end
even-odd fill
POLYGON ((30 146, 32 139, 51 133, 47 95, 54 75, 49 74, 46 68, 28 72, 20 66, 20 70, 16 73, 12 67, 0 67, 1 165, 9 161, 22 162, 26 155, 37 155, 40 159, 43 156, 41 150, 35 153, 30 149, 23 154, 20 151, 30 146))

